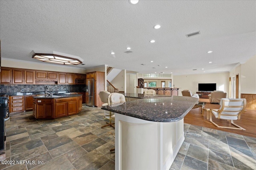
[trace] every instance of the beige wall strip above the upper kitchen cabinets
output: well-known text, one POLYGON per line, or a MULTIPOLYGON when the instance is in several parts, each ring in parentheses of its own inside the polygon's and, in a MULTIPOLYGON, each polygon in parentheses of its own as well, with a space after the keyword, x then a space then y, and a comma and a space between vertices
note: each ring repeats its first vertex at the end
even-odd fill
POLYGON ((56 71, 56 72, 72 72, 72 73, 85 73, 84 68, 76 68, 71 66, 58 66, 57 64, 38 64, 35 62, 24 62, 21 60, 10 60, 10 59, 1 59, 2 67, 13 67, 13 68, 25 68, 33 70, 46 70, 46 71, 56 71))

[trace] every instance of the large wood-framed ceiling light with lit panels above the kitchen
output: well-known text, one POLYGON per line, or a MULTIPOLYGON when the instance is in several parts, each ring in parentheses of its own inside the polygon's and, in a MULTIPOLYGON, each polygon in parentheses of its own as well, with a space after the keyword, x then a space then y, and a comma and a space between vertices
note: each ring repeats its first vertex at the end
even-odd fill
POLYGON ((32 55, 33 59, 37 59, 39 61, 52 63, 52 64, 78 65, 78 64, 82 64, 84 61, 82 58, 78 56, 59 53, 56 51, 42 53, 42 52, 34 52, 33 50, 31 51, 30 54, 32 55))

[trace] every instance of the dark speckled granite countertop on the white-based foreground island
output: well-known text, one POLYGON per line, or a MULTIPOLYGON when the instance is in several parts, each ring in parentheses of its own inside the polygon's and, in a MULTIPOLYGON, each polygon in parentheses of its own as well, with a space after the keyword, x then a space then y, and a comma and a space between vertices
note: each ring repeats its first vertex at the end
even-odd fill
POLYGON ((185 117, 198 100, 185 96, 148 97, 101 108, 147 121, 173 122, 185 117))

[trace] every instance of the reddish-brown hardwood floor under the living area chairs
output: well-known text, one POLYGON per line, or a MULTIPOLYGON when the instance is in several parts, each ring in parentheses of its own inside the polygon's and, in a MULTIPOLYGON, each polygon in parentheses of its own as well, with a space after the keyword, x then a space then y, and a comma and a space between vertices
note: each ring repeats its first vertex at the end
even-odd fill
MULTIPOLYGON (((218 109, 220 108, 219 104, 210 104, 209 99, 200 98, 200 102, 207 102, 205 108, 209 109, 218 109)), ((226 128, 218 128, 213 125, 209 120, 206 119, 206 112, 204 116, 201 114, 201 108, 191 109, 190 112, 184 117, 184 123, 188 123, 191 125, 198 125, 202 127, 208 127, 211 129, 217 129, 220 131, 226 131, 230 133, 236 133, 240 135, 245 135, 249 137, 256 137, 256 110, 254 109, 246 109, 247 111, 241 115, 240 120, 235 120, 234 123, 240 125, 246 131, 236 130, 236 129, 226 129, 226 128)), ((231 123, 226 120, 212 118, 214 122, 218 125, 233 127, 231 123)))

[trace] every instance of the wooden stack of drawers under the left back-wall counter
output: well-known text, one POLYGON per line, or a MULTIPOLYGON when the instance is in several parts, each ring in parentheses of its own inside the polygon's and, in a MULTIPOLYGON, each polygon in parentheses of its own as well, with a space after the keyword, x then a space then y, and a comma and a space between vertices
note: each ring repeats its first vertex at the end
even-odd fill
POLYGON ((24 96, 10 96, 10 113, 24 111, 24 96))

